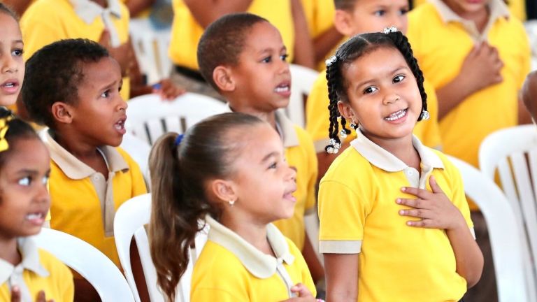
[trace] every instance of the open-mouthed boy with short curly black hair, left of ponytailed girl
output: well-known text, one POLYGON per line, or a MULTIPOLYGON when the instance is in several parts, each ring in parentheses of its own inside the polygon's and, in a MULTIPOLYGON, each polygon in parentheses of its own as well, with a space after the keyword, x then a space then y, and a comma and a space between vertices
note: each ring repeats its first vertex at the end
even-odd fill
POLYGON ((68 39, 28 60, 22 87, 31 117, 49 127, 44 139, 52 158, 50 227, 85 240, 118 267, 115 210, 146 192, 138 165, 116 148, 127 120, 121 86, 120 66, 105 48, 68 39))

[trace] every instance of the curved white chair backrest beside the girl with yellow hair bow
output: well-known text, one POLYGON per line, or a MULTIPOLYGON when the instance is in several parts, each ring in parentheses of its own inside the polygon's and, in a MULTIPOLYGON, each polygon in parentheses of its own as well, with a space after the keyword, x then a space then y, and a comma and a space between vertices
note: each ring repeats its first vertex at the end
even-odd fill
POLYGON ((90 282, 102 301, 134 301, 121 271, 89 243, 68 233, 47 228, 41 229, 35 240, 38 247, 54 254, 90 282))

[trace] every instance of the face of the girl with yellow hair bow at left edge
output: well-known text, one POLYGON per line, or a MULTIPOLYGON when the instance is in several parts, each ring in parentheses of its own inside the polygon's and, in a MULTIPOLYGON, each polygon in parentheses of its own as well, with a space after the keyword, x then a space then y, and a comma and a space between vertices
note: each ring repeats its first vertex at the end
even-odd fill
POLYGON ((0 236, 13 239, 41 231, 50 206, 47 190, 50 157, 38 138, 11 143, 0 171, 0 236))

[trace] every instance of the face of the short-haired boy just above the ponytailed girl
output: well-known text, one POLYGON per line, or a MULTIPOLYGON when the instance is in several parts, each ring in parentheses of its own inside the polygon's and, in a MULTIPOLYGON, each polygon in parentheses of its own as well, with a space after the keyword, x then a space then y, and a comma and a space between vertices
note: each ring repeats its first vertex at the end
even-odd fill
MULTIPOLYGON (((287 50, 278 29, 268 22, 255 24, 247 35, 237 66, 231 67, 231 77, 236 83, 233 99, 248 102, 252 113, 287 107, 291 74, 286 59, 287 50)), ((233 99, 231 106, 234 106, 233 99)))

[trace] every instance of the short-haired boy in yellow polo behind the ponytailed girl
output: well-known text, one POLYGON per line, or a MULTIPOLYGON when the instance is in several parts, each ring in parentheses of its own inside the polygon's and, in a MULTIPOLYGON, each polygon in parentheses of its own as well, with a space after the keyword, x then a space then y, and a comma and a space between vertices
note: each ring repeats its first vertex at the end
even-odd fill
POLYGON ((198 45, 198 64, 207 82, 229 101, 232 111, 255 115, 278 130, 285 158, 296 168, 296 207, 291 219, 275 226, 304 252, 313 279, 322 266, 304 227, 304 214, 315 208, 317 161, 306 131, 277 112, 289 104, 291 75, 287 50, 278 29, 262 17, 237 13, 210 24, 198 45))

